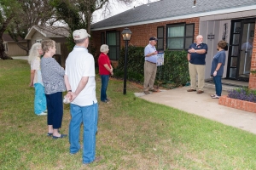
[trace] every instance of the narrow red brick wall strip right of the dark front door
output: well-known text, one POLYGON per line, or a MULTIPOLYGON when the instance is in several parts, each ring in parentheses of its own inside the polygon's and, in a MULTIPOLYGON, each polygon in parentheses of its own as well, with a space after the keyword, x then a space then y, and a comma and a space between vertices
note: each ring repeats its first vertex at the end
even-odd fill
MULTIPOLYGON (((256 20, 255 20, 256 21, 256 20)), ((253 41, 253 54, 252 54, 252 62, 251 62, 251 71, 256 70, 256 22, 254 28, 254 41, 253 41)), ((256 75, 250 74, 249 78, 249 88, 256 89, 256 75)))

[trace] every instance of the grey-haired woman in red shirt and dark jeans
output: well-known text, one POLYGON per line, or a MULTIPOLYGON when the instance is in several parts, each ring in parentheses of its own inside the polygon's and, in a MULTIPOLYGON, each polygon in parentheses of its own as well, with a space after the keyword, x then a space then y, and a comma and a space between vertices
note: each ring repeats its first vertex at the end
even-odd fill
POLYGON ((107 98, 107 88, 108 88, 108 80, 109 75, 113 76, 113 67, 110 64, 110 60, 108 58, 108 45, 103 44, 100 48, 102 52, 98 59, 99 72, 102 78, 102 89, 101 89, 101 101, 108 103, 109 99, 107 98))

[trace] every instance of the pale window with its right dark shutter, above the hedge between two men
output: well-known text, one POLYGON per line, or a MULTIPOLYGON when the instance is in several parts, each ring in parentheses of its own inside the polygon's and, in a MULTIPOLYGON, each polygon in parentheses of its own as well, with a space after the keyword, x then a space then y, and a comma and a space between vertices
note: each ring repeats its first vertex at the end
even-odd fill
POLYGON ((185 50, 194 42, 194 24, 168 25, 166 30, 167 49, 185 50))

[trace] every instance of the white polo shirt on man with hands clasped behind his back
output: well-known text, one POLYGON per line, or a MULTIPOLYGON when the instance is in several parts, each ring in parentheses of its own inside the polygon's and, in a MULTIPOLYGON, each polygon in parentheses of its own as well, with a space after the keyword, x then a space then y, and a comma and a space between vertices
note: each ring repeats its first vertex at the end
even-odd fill
POLYGON ((82 77, 89 77, 85 88, 80 92, 73 105, 87 106, 97 103, 95 61, 87 48, 74 47, 66 59, 65 74, 68 77, 71 90, 75 92, 82 77))

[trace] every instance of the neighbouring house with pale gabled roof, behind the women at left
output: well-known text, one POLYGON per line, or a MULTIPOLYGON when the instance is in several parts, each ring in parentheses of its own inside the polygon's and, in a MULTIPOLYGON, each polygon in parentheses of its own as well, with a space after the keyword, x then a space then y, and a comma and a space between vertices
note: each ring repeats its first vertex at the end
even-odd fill
POLYGON ((55 59, 61 66, 65 65, 67 59, 67 37, 69 36, 67 26, 32 26, 26 34, 25 39, 30 40, 30 47, 36 42, 43 40, 54 40, 56 42, 56 56, 55 59))

